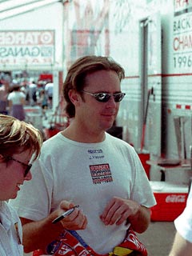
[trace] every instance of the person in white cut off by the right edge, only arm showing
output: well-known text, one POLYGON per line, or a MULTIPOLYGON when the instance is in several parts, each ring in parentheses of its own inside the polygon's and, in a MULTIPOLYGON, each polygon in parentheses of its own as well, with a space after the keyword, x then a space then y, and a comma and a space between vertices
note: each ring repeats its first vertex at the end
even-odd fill
POLYGON ((192 190, 186 202, 186 208, 174 221, 177 230, 170 256, 192 255, 192 190))

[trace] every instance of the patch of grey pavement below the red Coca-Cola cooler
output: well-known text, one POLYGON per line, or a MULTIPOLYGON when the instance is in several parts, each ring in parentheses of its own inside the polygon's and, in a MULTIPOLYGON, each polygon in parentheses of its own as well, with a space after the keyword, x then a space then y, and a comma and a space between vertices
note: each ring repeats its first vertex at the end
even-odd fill
POLYGON ((148 256, 168 256, 174 234, 173 222, 151 222, 148 230, 138 237, 146 246, 148 256))

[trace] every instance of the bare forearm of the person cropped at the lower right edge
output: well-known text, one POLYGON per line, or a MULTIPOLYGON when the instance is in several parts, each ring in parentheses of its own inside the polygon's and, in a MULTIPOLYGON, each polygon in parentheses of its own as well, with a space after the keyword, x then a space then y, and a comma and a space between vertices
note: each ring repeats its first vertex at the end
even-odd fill
POLYGON ((191 256, 192 255, 192 243, 182 238, 178 232, 175 234, 174 244, 170 250, 169 256, 191 256))

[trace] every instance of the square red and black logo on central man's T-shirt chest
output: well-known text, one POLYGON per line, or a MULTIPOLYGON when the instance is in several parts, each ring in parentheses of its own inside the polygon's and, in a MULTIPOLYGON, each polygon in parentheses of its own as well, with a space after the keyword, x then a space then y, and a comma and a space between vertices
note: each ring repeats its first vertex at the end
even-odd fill
POLYGON ((108 163, 90 166, 90 174, 94 184, 113 182, 108 163))

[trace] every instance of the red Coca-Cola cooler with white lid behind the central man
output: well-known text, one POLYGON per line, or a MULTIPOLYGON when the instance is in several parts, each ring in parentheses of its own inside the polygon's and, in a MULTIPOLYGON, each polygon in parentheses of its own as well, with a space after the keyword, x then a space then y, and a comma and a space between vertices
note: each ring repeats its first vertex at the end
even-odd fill
POLYGON ((150 220, 173 222, 186 207, 189 187, 171 182, 150 181, 157 205, 150 208, 150 220))

